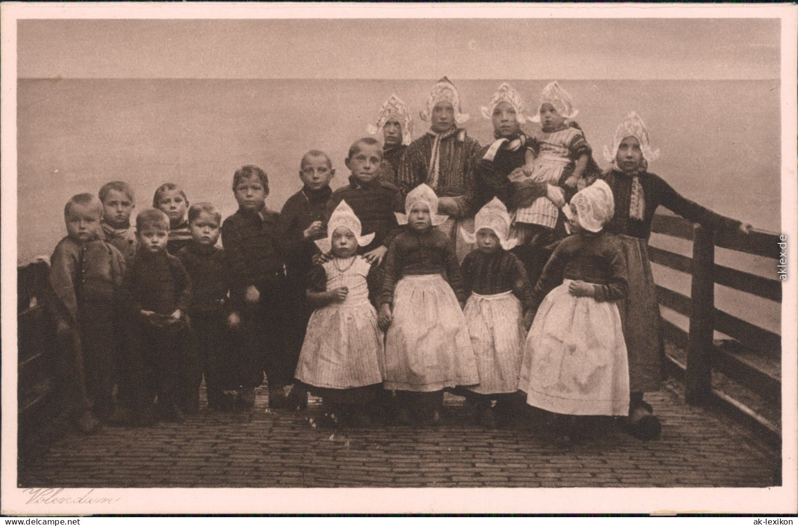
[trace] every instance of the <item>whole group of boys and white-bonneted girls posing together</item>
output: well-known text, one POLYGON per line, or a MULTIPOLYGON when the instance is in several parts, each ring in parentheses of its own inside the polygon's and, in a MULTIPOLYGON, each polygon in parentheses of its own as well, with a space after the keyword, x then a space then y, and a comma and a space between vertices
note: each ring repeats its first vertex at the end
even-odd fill
MULTIPOLYGON (((51 282, 77 425, 180 422, 199 410, 203 376, 209 407, 251 407, 265 372, 270 407, 300 409, 310 391, 333 426, 436 425, 452 390, 493 427, 519 413, 520 391, 567 415, 565 440, 577 415, 628 417, 639 436, 658 435, 642 401, 658 387, 662 345, 646 252, 654 210, 747 226, 647 173, 656 154, 635 114, 599 174, 558 84, 543 91, 533 138, 508 84, 483 112, 496 140, 472 152, 467 201, 439 197, 435 184, 400 188, 372 138, 350 147, 349 184, 335 191, 330 158, 308 151, 303 187, 280 214, 267 210, 267 175, 254 166, 235 172, 239 210, 224 222, 171 183, 135 230, 127 184, 71 198, 51 282), (472 247, 458 257, 439 212, 463 217, 464 203, 479 208, 455 232, 472 247)), ((448 133, 435 126, 454 118, 441 115, 433 159, 448 133)), ((381 117, 392 151, 407 122, 381 117)))

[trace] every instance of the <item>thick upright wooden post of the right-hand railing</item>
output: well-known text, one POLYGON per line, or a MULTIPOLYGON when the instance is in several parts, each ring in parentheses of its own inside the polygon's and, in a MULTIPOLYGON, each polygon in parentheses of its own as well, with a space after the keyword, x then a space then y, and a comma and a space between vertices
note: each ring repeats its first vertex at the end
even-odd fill
POLYGON ((715 314, 715 241, 712 229, 693 226, 693 280, 690 289, 690 328, 685 371, 685 400, 701 405, 712 391, 712 353, 715 314))

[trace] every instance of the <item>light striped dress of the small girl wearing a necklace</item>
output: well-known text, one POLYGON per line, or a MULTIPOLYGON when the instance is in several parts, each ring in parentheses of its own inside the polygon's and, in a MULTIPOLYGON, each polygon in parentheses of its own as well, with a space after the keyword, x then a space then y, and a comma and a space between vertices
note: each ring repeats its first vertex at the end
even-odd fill
POLYGON ((307 324, 296 378, 313 387, 350 389, 381 383, 385 366, 377 312, 369 303, 372 266, 360 256, 315 265, 311 289, 347 287, 346 300, 316 309, 307 324), (326 285, 320 287, 320 277, 326 285))

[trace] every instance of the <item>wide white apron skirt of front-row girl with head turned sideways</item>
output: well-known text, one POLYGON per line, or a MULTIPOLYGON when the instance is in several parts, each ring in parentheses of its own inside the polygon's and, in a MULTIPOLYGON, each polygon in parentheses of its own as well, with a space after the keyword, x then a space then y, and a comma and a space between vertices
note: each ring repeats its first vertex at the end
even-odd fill
POLYGON ((614 302, 549 292, 527 336, 519 389, 560 414, 629 414, 629 367, 614 302))

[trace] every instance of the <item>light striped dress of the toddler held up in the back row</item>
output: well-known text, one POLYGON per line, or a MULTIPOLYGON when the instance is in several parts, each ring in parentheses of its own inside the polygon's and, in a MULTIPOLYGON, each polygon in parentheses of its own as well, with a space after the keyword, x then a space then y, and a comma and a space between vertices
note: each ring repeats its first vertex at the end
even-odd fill
MULTIPOLYGON (((574 170, 576 159, 591 153, 582 130, 564 125, 556 131, 538 131, 535 134, 535 167, 529 179, 535 183, 562 184, 574 170)), ((532 223, 553 229, 559 210, 546 197, 535 199, 531 206, 516 210, 516 222, 532 223)))

